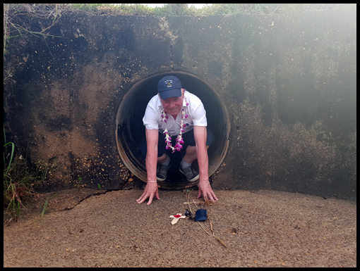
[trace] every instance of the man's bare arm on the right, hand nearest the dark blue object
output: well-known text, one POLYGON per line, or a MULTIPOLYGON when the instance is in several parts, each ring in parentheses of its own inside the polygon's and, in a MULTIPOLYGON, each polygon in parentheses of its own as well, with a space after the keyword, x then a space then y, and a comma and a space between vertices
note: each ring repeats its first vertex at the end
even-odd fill
POLYGON ((198 184, 200 198, 203 194, 204 198, 209 198, 212 201, 217 201, 214 191, 210 186, 209 182, 209 160, 208 160, 208 149, 206 148, 207 131, 204 126, 194 126, 193 134, 196 143, 196 154, 198 156, 199 175, 200 182, 198 184))

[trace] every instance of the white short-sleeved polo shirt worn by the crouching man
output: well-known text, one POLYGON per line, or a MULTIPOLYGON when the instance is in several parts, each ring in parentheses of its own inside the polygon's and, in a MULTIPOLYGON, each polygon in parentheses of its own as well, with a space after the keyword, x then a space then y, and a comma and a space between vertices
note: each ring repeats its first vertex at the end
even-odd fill
MULTIPOLYGON (((201 100, 188 91, 184 92, 184 96, 188 101, 188 106, 186 106, 185 99, 183 101, 185 114, 188 115, 188 118, 184 118, 184 124, 186 124, 186 127, 184 127, 185 132, 192 130, 194 126, 208 126, 206 111, 201 100)), ((171 136, 177 136, 180 133, 181 111, 176 116, 176 120, 174 120, 172 115, 167 114, 169 118, 167 119, 167 123, 165 123, 161 117, 162 110, 163 108, 159 96, 153 96, 146 107, 143 118, 145 127, 148 130, 159 130, 159 132, 162 133, 167 129, 171 136)))

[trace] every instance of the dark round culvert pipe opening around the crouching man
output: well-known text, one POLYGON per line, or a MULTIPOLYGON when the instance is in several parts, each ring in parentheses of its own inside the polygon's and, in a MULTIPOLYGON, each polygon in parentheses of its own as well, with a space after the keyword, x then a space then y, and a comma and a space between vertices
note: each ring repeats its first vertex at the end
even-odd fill
MULTIPOLYGON (((157 82, 166 75, 178 77, 184 89, 203 101, 208 129, 215 137, 215 143, 208 149, 210 177, 221 165, 229 146, 229 116, 220 96, 206 82, 190 73, 173 71, 152 75, 139 80, 126 92, 116 114, 116 144, 120 158, 133 175, 146 182, 145 160, 140 157, 138 150, 139 142, 145 137, 143 116, 148 102, 157 94, 157 82)), ((179 172, 182 156, 184 151, 172 154, 172 166, 169 168, 167 179, 158 182, 161 188, 184 189, 198 184, 187 182, 184 175, 179 172)), ((198 168, 197 160, 193 166, 198 168)))

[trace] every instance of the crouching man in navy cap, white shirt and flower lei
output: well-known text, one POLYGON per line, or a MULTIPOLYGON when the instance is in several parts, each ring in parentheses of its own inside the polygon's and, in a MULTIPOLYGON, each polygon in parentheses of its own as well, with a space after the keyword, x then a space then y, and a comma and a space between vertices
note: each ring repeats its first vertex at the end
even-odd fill
POLYGON ((174 76, 163 77, 157 84, 157 92, 149 101, 143 118, 146 142, 140 144, 140 153, 146 159, 148 182, 136 201, 143 203, 149 198, 149 205, 154 196, 160 199, 157 182, 166 179, 171 154, 183 148, 186 153, 180 163, 180 172, 188 182, 195 182, 200 177, 198 198, 203 194, 204 198, 217 201, 208 175, 208 147, 214 136, 207 130, 203 103, 183 89, 180 80, 174 76), (195 159, 198 159, 199 173, 191 168, 195 159))

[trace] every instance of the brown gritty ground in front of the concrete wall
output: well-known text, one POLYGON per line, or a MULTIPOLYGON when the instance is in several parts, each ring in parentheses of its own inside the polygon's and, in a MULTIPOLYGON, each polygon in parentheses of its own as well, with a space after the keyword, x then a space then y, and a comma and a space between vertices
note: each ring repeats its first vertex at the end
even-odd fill
MULTIPOLYGON (((4 267, 356 267, 352 201, 215 191, 220 200, 206 208, 225 247, 198 222, 171 224, 188 208, 184 191, 162 190, 150 206, 136 203, 140 189, 101 193, 47 194, 43 221, 34 220, 34 205, 4 222, 4 267)), ((209 220, 200 223, 212 234, 209 220)))

